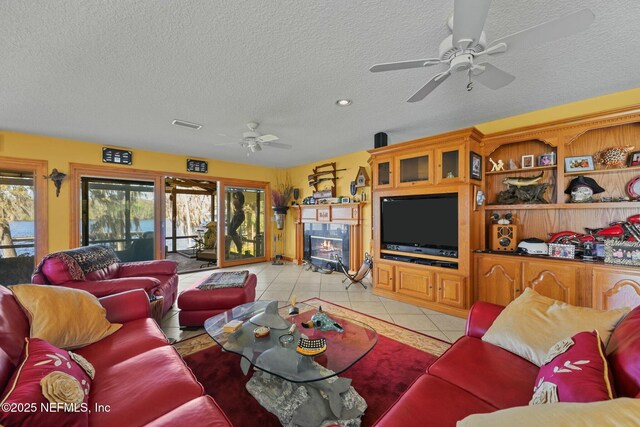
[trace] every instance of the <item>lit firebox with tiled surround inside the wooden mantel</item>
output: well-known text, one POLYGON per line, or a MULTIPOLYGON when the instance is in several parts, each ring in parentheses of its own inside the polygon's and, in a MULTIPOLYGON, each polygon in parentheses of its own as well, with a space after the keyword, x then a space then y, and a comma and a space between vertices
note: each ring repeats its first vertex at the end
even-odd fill
POLYGON ((337 269, 337 257, 349 268, 349 226, 304 224, 304 259, 322 268, 337 269))

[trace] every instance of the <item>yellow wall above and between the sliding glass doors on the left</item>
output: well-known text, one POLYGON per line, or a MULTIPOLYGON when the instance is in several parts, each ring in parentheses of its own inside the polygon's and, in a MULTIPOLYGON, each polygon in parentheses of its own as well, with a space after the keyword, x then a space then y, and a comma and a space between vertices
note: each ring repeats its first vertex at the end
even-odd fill
MULTIPOLYGON (((52 138, 16 132, 0 131, 0 156, 47 160, 48 170, 57 168, 60 172, 69 172, 69 163, 87 165, 104 165, 102 163, 102 147, 100 144, 52 138)), ((133 152, 131 166, 111 165, 114 170, 139 169, 160 171, 167 174, 186 173, 188 156, 158 153, 129 149, 133 152)), ((224 177, 254 181, 273 181, 276 169, 240 163, 223 162, 214 159, 209 161, 208 174, 194 174, 199 178, 224 177)), ((71 188, 63 182, 60 197, 56 198, 53 184, 48 186, 49 193, 49 252, 69 249, 70 210, 69 199, 71 188)))

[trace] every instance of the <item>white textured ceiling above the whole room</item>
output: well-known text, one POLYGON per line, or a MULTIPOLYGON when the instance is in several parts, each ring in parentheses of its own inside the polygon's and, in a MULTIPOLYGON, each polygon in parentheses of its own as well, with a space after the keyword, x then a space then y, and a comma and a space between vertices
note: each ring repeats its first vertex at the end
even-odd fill
POLYGON ((494 0, 487 39, 583 7, 587 31, 491 59, 509 86, 408 104, 438 66, 368 69, 437 56, 452 0, 2 0, 0 129, 284 167, 640 86, 637 0, 494 0), (214 145, 248 121, 293 149, 214 145))

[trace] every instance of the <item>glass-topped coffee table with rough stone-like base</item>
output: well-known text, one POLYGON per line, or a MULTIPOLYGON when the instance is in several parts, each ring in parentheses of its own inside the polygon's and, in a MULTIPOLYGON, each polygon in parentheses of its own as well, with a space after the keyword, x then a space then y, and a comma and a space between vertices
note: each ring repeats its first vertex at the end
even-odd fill
POLYGON ((277 304, 277 301, 242 304, 207 319, 205 330, 223 350, 241 356, 244 374, 251 366, 256 369, 247 390, 283 424, 317 426, 326 420, 359 418, 366 403, 351 387, 351 380, 338 375, 371 351, 378 340, 376 331, 330 311, 324 312, 342 327, 342 332, 306 329, 302 323, 318 312, 317 307, 298 303, 299 314, 289 315, 289 307, 278 310, 277 304), (251 319, 261 313, 276 315, 279 324, 278 328, 271 328, 268 336, 256 338, 254 330, 260 325, 251 319), (224 325, 233 320, 243 322, 242 326, 234 332, 225 332, 224 325), (289 334, 291 324, 296 328, 289 334), (298 353, 296 346, 301 336, 312 340, 324 338, 326 350, 317 356, 298 353))

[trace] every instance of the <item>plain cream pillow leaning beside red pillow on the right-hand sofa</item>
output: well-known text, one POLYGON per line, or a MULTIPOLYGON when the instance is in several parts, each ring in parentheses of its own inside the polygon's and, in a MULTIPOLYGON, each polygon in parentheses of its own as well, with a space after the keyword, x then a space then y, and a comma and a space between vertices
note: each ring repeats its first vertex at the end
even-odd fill
POLYGON ((526 288, 502 310, 482 340, 541 366, 551 346, 578 332, 597 330, 606 347, 611 332, 629 310, 575 307, 526 288))

